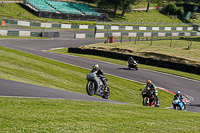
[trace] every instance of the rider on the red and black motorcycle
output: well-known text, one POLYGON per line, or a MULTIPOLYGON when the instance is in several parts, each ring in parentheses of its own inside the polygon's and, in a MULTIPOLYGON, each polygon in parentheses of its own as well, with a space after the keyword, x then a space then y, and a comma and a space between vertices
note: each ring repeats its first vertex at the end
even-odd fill
POLYGON ((153 92, 153 95, 155 97, 155 103, 156 103, 156 105, 160 106, 159 100, 158 100, 158 90, 156 89, 156 86, 152 83, 151 80, 147 81, 147 85, 145 87, 145 90, 147 90, 148 88, 150 88, 150 91, 153 92))

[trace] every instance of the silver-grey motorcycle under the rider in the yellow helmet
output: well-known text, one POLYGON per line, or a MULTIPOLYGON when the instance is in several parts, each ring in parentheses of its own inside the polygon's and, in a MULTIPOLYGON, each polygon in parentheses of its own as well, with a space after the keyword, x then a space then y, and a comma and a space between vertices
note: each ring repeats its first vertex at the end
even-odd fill
POLYGON ((96 75, 95 72, 88 73, 86 79, 88 80, 87 85, 86 85, 86 91, 89 96, 97 95, 105 99, 109 98, 110 89, 107 87, 107 85, 103 84, 103 82, 96 75))

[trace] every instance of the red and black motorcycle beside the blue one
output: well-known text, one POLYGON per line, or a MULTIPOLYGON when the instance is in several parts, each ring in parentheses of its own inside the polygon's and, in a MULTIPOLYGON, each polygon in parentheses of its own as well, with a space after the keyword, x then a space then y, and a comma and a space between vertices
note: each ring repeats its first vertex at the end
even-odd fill
POLYGON ((153 95, 153 91, 150 91, 150 88, 148 89, 140 89, 142 98, 143 98, 143 106, 150 106, 150 107, 160 107, 158 104, 156 104, 155 100, 156 98, 153 95))

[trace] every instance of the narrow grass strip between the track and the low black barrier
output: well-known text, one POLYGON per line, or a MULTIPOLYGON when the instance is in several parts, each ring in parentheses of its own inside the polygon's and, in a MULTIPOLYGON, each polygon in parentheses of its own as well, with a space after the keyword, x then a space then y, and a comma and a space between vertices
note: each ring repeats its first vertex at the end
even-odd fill
MULTIPOLYGON (((68 49, 67 48, 51 50, 49 52, 75 55, 75 56, 80 56, 80 57, 85 57, 85 58, 90 58, 90 59, 110 62, 110 63, 114 63, 114 64, 120 64, 120 65, 126 65, 127 64, 127 61, 122 61, 122 60, 116 60, 116 59, 105 58, 105 57, 94 56, 94 55, 87 55, 87 54, 68 53, 68 49)), ((169 74, 178 75, 178 76, 182 76, 182 77, 186 77, 186 78, 195 79, 195 80, 200 81, 200 75, 196 75, 196 74, 191 74, 191 73, 186 73, 186 72, 181 72, 181 71, 176 71, 176 70, 166 69, 166 68, 161 68, 161 67, 148 66, 148 65, 143 65, 143 64, 138 64, 138 67, 142 68, 142 69, 169 73, 169 74)))

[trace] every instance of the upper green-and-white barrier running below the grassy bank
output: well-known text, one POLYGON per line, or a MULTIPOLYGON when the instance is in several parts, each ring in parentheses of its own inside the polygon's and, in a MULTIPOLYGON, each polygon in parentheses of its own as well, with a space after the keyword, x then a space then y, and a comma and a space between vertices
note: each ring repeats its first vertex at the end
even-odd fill
POLYGON ((72 24, 51 24, 51 23, 36 23, 36 22, 26 22, 17 21, 11 19, 5 19, 6 23, 21 25, 21 26, 37 26, 37 27, 47 27, 47 28, 68 28, 68 29, 95 29, 97 30, 154 30, 154 31, 200 31, 198 25, 185 26, 185 27, 151 27, 151 26, 115 26, 115 25, 72 25, 72 24))

